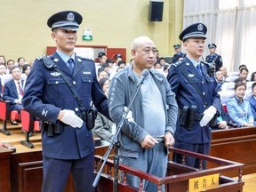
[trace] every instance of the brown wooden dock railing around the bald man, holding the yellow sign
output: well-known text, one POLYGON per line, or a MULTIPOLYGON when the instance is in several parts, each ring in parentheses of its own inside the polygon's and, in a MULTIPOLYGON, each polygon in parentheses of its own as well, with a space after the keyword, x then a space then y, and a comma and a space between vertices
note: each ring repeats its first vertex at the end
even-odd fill
MULTIPOLYGON (((124 164, 119 165, 119 170, 124 174, 124 180, 119 182, 120 191, 144 191, 143 180, 148 180, 157 185, 158 191, 161 191, 162 185, 165 185, 166 191, 187 191, 188 190, 188 180, 193 178, 199 178, 207 175, 212 175, 214 173, 220 173, 220 185, 218 188, 211 189, 212 191, 243 191, 244 182, 242 181, 242 169, 244 164, 239 164, 236 162, 220 159, 213 156, 205 156, 189 152, 186 150, 180 150, 178 148, 170 148, 170 151, 179 153, 184 158, 186 156, 195 156, 196 158, 206 160, 207 162, 212 162, 218 164, 218 167, 210 168, 207 170, 197 170, 192 167, 188 167, 185 164, 176 164, 172 161, 168 163, 167 176, 164 178, 159 178, 154 175, 150 175, 146 172, 140 172, 138 170, 132 169, 132 167, 125 166, 124 164), (236 171, 236 176, 238 180, 233 180, 222 175, 222 172, 236 171), (125 175, 129 173, 140 178, 140 188, 133 188, 126 183, 125 175)), ((96 167, 100 166, 100 160, 102 156, 95 156, 96 167)), ((114 162, 113 160, 108 160, 106 163, 108 167, 108 172, 101 174, 100 183, 97 187, 97 191, 112 191, 113 189, 113 170, 114 162), (108 189, 107 189, 108 188, 108 189)))

